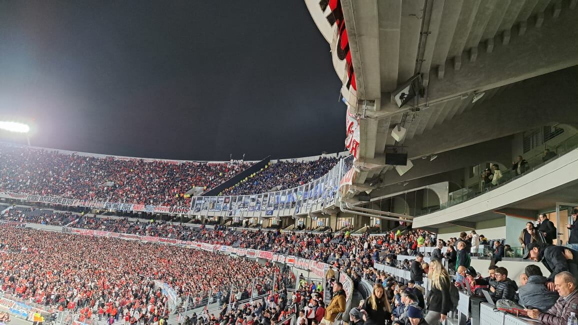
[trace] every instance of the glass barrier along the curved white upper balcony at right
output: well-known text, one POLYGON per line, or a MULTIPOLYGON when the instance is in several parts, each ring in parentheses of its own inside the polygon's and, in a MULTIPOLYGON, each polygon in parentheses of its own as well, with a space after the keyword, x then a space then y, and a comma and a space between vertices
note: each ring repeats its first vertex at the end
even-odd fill
MULTIPOLYGON (((451 192, 449 194, 447 203, 440 204, 440 209, 445 209, 445 208, 449 208, 451 206, 455 206, 456 204, 460 204, 464 201, 468 201, 470 199, 473 199, 476 196, 490 192, 490 190, 492 190, 492 189, 498 188, 499 186, 507 184, 508 182, 515 180, 516 178, 521 177, 524 174, 527 174, 527 173, 530 173, 531 171, 539 169, 543 165, 546 165, 547 163, 555 160, 556 158, 566 154, 567 152, 569 152, 571 150, 574 150, 577 147, 578 147, 578 135, 574 135, 572 137, 569 137, 568 139, 562 141, 559 144, 551 145, 551 146, 549 146, 550 151, 554 152, 556 154, 552 158, 546 159, 543 154, 532 156, 532 157, 526 159, 526 161, 528 162, 528 165, 526 165, 524 172, 521 174, 517 174, 517 171, 512 170, 512 169, 501 170, 502 177, 499 178, 499 180, 497 181, 497 184, 495 184, 495 185, 494 184, 485 184, 483 180, 480 180, 479 183, 470 185, 467 188, 462 188, 462 189, 456 190, 454 192, 451 192)), ((428 210, 422 210, 419 212, 420 212, 420 214, 416 214, 416 215, 423 215, 423 214, 431 213, 431 212, 428 212, 428 210)))

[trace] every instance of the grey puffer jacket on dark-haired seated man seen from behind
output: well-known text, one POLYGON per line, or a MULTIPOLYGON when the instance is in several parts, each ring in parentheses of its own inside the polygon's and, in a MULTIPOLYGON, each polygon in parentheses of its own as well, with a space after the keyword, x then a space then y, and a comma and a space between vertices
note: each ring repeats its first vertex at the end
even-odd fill
POLYGON ((546 282, 548 279, 540 275, 532 275, 528 278, 528 283, 518 290, 520 305, 529 309, 538 309, 546 312, 558 300, 558 293, 548 290, 546 282))

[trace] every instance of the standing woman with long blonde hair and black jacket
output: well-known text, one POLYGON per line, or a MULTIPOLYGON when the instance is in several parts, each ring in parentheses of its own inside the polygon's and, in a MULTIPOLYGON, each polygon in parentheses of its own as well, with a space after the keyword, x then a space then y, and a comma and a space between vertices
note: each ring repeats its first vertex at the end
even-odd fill
POLYGON ((429 291, 428 313, 425 315, 425 321, 429 325, 439 325, 446 320, 447 313, 452 307, 450 274, 439 259, 432 259, 429 262, 428 279, 431 283, 431 290, 429 291))

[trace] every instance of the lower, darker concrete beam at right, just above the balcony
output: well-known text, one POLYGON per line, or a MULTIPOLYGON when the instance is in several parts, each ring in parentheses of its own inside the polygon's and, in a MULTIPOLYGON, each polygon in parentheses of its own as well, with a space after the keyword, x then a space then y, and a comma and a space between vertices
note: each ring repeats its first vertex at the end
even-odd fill
MULTIPOLYGON (((578 52, 577 52, 578 53, 578 52)), ((578 66, 512 85, 472 110, 405 141, 409 158, 438 154, 549 123, 578 123, 578 66), (546 109, 547 108, 547 109, 546 109), (496 118, 498 117, 499 118, 496 118)), ((470 100, 470 99, 464 99, 470 100)))

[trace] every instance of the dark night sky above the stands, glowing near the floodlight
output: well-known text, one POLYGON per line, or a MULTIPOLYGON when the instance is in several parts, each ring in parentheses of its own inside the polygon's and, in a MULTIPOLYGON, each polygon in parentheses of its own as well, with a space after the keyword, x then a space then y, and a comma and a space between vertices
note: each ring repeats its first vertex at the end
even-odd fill
POLYGON ((0 2, 0 119, 30 122, 32 145, 190 160, 337 152, 339 89, 302 0, 0 2))

